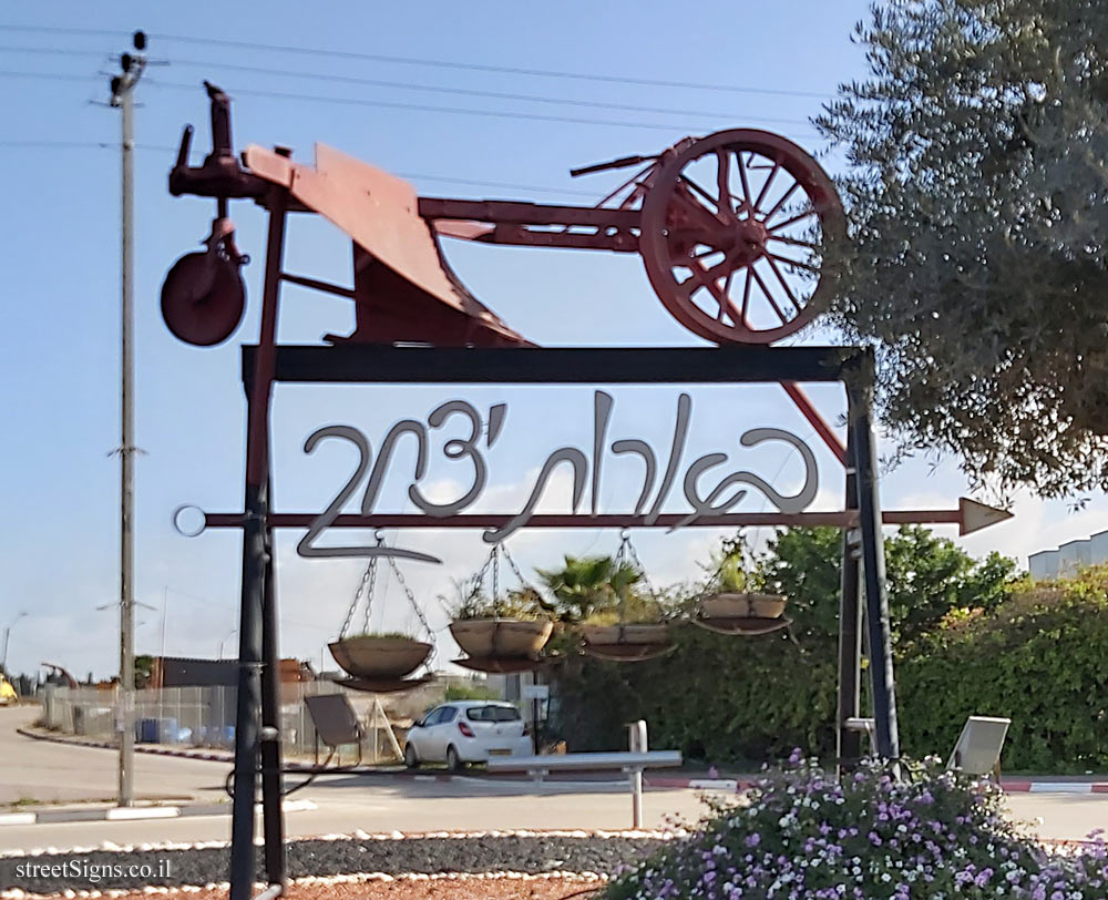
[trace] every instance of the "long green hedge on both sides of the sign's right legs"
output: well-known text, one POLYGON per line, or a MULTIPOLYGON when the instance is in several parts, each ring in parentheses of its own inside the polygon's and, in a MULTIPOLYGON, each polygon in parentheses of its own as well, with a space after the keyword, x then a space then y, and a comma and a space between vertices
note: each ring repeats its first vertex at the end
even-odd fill
MULTIPOLYGON (((1007 769, 1108 769, 1108 570, 1017 591, 992 611, 955 610, 896 653, 901 745, 950 753, 966 716, 1012 718, 1007 769)), ((676 650, 645 663, 568 657, 554 672, 573 750, 626 745, 645 718, 654 747, 749 764, 793 747, 834 754, 837 643, 788 634, 727 637, 675 627, 676 650)))

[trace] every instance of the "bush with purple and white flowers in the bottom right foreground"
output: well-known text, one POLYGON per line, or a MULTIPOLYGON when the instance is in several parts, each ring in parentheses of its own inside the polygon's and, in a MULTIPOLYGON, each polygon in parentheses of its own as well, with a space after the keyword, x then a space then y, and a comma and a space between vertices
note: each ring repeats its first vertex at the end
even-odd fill
POLYGON ((1108 859, 1098 837, 1069 856, 1048 853, 1003 815, 1002 792, 946 771, 904 764, 901 779, 868 761, 841 781, 796 751, 748 801, 710 812, 637 870, 608 900, 1102 900, 1108 859))

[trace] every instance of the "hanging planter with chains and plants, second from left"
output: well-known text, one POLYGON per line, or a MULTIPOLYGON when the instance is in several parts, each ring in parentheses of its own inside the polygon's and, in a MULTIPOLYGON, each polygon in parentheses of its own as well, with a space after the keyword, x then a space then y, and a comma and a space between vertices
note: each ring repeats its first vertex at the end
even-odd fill
POLYGON ((465 657, 454 662, 475 672, 516 673, 537 668, 538 654, 554 631, 537 603, 537 593, 523 582, 507 548, 496 544, 466 593, 454 607, 450 633, 465 657), (522 587, 500 596, 500 556, 507 559, 522 587), (492 593, 484 593, 492 571, 492 593))

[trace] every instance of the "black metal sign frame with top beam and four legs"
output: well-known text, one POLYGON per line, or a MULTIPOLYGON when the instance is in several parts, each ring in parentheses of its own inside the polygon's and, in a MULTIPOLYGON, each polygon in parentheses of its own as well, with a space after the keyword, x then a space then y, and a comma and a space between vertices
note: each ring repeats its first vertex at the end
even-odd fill
MULTIPOLYGON (((270 406, 274 386, 286 383, 772 383, 840 382, 845 387, 847 447, 842 600, 840 606, 838 747, 843 761, 861 756, 861 736, 845 727, 860 709, 862 604, 864 569, 865 616, 872 685, 875 749, 900 756, 885 560, 878 494, 876 447, 873 438, 872 351, 854 347, 719 347, 719 348, 438 348, 345 345, 279 347, 277 314, 283 272, 288 191, 271 185, 260 200, 269 211, 268 252, 261 299, 260 339, 243 348, 243 382, 247 398, 246 479, 243 512, 216 517, 209 524, 243 530, 242 611, 239 621, 238 709, 235 732, 234 809, 232 825, 232 900, 246 900, 254 883, 254 806, 259 773, 263 801, 266 876, 276 896, 287 882, 285 827, 281 815, 281 745, 278 683, 278 616, 276 528, 307 523, 273 511, 269 464, 270 406), (229 520, 229 521, 228 521, 229 520), (237 520, 237 521, 236 521, 237 520), (856 530, 852 528, 856 523, 856 530)), ((818 513, 813 513, 815 515, 818 513)), ((587 514, 560 517, 558 525, 601 524, 587 514)), ((375 518, 349 524, 383 524, 375 518)), ((706 518, 698 525, 733 520, 706 518)), ((639 526, 632 517, 606 517, 604 524, 639 526)), ((789 524, 769 514, 765 524, 789 524)), ((345 523, 343 523, 345 524, 345 523)), ((420 517, 407 528, 442 528, 447 520, 420 517)), ((476 521, 459 524, 478 526, 476 521)), ((668 526, 659 520, 655 526, 668 526)), ((268 893, 269 891, 267 891, 268 893)))

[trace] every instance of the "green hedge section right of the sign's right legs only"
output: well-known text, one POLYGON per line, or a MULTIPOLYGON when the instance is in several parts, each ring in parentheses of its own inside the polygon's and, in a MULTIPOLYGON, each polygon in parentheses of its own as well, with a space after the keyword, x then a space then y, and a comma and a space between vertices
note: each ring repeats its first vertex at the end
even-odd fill
POLYGON ((902 743, 948 751, 966 716, 1012 719, 1008 769, 1108 769, 1108 570, 951 615, 901 659, 902 743))

